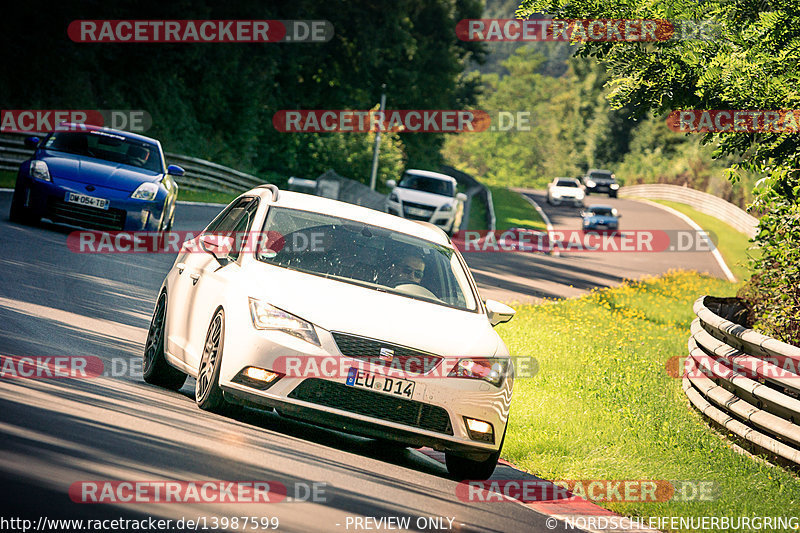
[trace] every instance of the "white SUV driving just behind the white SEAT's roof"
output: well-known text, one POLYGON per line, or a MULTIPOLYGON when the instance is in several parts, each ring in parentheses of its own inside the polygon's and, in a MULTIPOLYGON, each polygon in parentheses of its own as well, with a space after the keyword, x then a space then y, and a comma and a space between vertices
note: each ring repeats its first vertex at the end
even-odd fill
POLYGON ((455 178, 427 170, 406 170, 400 183, 389 180, 392 189, 386 212, 410 220, 431 222, 452 234, 458 227, 467 196, 457 193, 455 178))

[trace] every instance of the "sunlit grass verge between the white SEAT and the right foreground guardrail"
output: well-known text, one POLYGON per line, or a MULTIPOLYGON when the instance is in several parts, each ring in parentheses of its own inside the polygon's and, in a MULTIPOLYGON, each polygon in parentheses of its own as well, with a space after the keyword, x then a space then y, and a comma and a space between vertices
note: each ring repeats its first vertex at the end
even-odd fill
POLYGON ((692 303, 735 284, 693 272, 520 306, 497 327, 538 359, 515 383, 503 456, 551 480, 696 480, 711 501, 597 502, 628 516, 786 516, 800 480, 733 451, 689 408, 666 362, 686 355, 692 303))

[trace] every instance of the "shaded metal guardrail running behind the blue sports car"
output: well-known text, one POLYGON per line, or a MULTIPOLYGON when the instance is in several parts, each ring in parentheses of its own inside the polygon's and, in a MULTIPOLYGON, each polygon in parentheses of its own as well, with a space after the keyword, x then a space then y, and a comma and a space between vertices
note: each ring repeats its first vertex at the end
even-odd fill
MULTIPOLYGON (((33 150, 25 147, 25 137, 46 135, 46 133, 3 133, 0 134, 0 170, 16 171, 19 165, 33 155, 33 150)), ((263 178, 245 174, 238 170, 180 154, 165 153, 167 164, 183 167, 186 174, 177 178, 180 187, 216 192, 241 192, 264 183, 263 178)))

